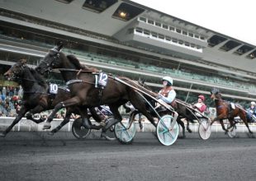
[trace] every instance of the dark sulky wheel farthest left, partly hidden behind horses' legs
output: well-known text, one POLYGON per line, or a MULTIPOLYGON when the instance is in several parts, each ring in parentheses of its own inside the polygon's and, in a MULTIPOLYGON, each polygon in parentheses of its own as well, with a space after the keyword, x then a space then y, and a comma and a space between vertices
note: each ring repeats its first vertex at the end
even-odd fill
POLYGON ((76 137, 78 139, 84 139, 84 138, 88 137, 90 132, 91 132, 91 129, 85 128, 83 126, 82 118, 76 118, 73 121, 72 133, 73 133, 74 137, 76 137))

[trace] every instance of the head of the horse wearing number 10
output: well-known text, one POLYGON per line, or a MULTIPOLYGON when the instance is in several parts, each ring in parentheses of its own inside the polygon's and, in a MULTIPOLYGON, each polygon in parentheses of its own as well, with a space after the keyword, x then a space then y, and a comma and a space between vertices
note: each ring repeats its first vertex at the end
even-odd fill
POLYGON ((8 80, 17 81, 18 77, 21 77, 26 67, 26 59, 20 59, 17 63, 3 74, 8 80))

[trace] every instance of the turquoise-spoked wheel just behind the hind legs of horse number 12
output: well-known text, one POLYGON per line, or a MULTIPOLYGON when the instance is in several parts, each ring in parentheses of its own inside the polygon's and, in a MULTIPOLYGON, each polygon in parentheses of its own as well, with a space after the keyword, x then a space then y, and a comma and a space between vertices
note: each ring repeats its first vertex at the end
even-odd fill
POLYGON ((122 144, 130 144, 135 137, 135 123, 132 121, 130 123, 130 118, 123 116, 121 122, 115 125, 115 135, 116 139, 122 144))

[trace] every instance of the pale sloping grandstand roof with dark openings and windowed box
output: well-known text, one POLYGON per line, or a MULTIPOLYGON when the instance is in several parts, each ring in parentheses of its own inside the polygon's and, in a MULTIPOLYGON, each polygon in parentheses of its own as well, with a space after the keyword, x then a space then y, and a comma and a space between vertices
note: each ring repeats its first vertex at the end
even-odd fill
MULTIPOLYGON (((212 63, 220 64, 245 72, 255 70, 254 45, 129 0, 13 0, 2 1, 0 5, 5 11, 33 16, 55 23, 56 26, 61 24, 78 30, 88 30, 104 38, 118 39, 127 44, 145 47, 176 58, 210 66, 212 63), (140 17, 146 18, 146 22, 138 21, 140 17), (168 26, 168 31, 165 26, 168 26), (171 27, 175 30, 169 30, 171 27), (127 32, 131 28, 142 29, 143 33, 158 32, 160 40, 162 35, 164 39, 170 36, 173 40, 177 40, 178 45, 183 44, 183 47, 163 44, 161 41, 155 41, 156 39, 145 39, 139 34, 129 36, 127 32), (201 51, 186 49, 186 46, 189 48, 196 46, 201 51)), ((11 21, 5 16, 0 18, 3 21, 11 21)))

